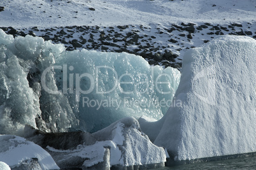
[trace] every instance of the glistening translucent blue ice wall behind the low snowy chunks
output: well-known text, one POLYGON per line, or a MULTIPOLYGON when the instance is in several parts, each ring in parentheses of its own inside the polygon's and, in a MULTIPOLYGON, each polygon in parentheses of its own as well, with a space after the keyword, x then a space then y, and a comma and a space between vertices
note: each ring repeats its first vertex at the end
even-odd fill
POLYGON ((179 81, 178 70, 150 67, 140 56, 65 51, 0 30, 0 133, 25 124, 94 132, 128 116, 160 119, 179 81))

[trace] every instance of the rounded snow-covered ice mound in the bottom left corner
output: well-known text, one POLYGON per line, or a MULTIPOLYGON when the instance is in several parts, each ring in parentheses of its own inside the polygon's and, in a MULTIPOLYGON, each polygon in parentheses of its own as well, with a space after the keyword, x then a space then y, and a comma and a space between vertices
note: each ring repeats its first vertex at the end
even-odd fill
MULTIPOLYGON (((43 148, 27 141, 24 138, 13 135, 0 135, 0 161, 5 162, 11 168, 36 159, 41 169, 59 169, 51 155, 43 148)), ((0 167, 3 164, 0 163, 0 167)))

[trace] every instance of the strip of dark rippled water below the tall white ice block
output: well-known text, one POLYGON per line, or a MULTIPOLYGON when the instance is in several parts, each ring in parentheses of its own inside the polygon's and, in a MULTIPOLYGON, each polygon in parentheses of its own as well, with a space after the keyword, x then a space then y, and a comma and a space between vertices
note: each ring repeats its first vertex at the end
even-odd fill
POLYGON ((162 167, 154 170, 189 170, 189 169, 256 169, 256 157, 239 157, 236 159, 217 160, 212 162, 201 162, 184 164, 173 167, 162 167))

